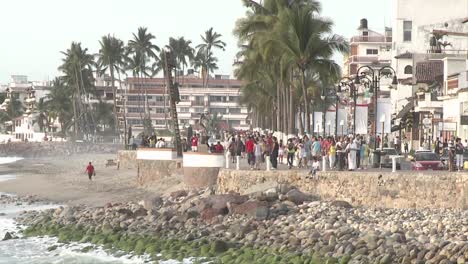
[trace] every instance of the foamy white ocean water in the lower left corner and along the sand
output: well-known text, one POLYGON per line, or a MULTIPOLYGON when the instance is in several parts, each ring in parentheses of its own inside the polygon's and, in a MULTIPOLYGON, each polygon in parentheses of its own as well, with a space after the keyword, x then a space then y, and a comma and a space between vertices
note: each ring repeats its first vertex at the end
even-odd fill
MULTIPOLYGON (((0 158, 0 164, 15 162, 21 158, 0 158)), ((1 165, 0 165, 1 166, 1 165)), ((14 175, 1 175, 0 182, 14 180, 14 175)), ((2 193, 0 185, 0 194, 2 193)), ((14 195, 14 194, 7 194, 14 195)), ((14 218, 22 211, 45 210, 56 208, 59 205, 2 205, 0 204, 0 264, 139 264, 153 263, 146 257, 125 255, 114 257, 102 248, 82 253, 82 248, 91 244, 71 243, 63 245, 57 243, 54 237, 34 237, 19 238, 1 241, 6 232, 13 232, 21 236, 21 227, 14 218), (54 245, 61 245, 56 250, 47 249, 54 245)), ((177 264, 178 261, 164 261, 161 264, 177 264)), ((190 264, 192 261, 186 259, 183 264, 190 264)))

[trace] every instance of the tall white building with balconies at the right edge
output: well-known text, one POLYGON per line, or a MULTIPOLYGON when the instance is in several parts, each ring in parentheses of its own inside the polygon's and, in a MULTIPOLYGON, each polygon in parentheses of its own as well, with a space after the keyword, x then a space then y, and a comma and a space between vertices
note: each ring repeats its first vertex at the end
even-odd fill
POLYGON ((398 119, 413 116, 413 129, 405 132, 415 145, 428 138, 468 136, 460 134, 456 120, 462 97, 453 91, 447 96, 449 78, 466 71, 468 27, 463 22, 467 18, 466 0, 394 1, 392 66, 399 85, 391 98, 398 119), (431 125, 423 126, 425 118, 431 119, 431 125))

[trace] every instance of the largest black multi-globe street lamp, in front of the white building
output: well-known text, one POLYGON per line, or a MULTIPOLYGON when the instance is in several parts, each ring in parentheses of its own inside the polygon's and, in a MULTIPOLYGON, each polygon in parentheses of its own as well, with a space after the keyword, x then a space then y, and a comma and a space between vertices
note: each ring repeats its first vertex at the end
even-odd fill
MULTIPOLYGON (((393 75, 392 79, 392 85, 398 85, 398 79, 396 76, 396 71, 390 66, 384 66, 380 69, 374 69, 371 68, 370 66, 361 66, 359 69, 356 71, 356 78, 354 79, 355 84, 360 84, 361 79, 367 78, 370 79, 371 86, 370 89, 374 93, 374 116, 375 116, 375 125, 374 125, 374 136, 377 137, 377 124, 378 124, 378 116, 377 116, 377 99, 378 99, 378 93, 380 90, 380 79, 382 77, 388 77, 388 70, 390 71, 390 74, 393 75), (367 71, 362 71, 363 69, 367 69, 367 71)), ((374 140, 374 150, 377 149, 377 140, 374 140)))

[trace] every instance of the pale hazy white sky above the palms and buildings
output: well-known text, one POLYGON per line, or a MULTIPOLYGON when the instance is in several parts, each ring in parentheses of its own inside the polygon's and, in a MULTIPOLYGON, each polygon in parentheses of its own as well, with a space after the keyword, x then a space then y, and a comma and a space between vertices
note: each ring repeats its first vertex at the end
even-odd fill
MULTIPOLYGON (((391 25, 391 0, 321 0, 322 15, 334 33, 353 36, 361 18, 369 28, 391 25)), ((222 34, 226 51, 216 51, 217 74, 232 75, 237 40, 232 31, 246 9, 241 0, 15 0, 0 4, 0 83, 14 74, 31 81, 52 80, 72 41, 94 54, 103 35, 127 42, 138 27, 147 27, 164 46, 169 37, 185 37, 197 45, 210 27, 222 34)), ((334 57, 341 63, 341 56, 334 57)))

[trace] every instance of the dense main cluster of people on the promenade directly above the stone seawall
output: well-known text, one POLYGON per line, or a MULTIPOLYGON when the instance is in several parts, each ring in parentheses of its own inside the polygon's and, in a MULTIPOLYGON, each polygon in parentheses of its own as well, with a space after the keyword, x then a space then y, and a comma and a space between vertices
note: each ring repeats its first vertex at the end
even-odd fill
POLYGON ((259 132, 230 136, 224 144, 220 141, 210 148, 213 153, 230 156, 236 163, 237 157, 247 159, 251 170, 259 170, 269 159, 273 170, 278 164, 286 164, 289 169, 310 169, 311 174, 325 164, 328 169, 361 170, 369 165, 370 147, 368 139, 362 136, 343 137, 291 137, 286 142, 270 134, 259 132), (219 146, 219 147, 217 147, 219 146), (325 159, 325 163, 323 160, 325 159))

